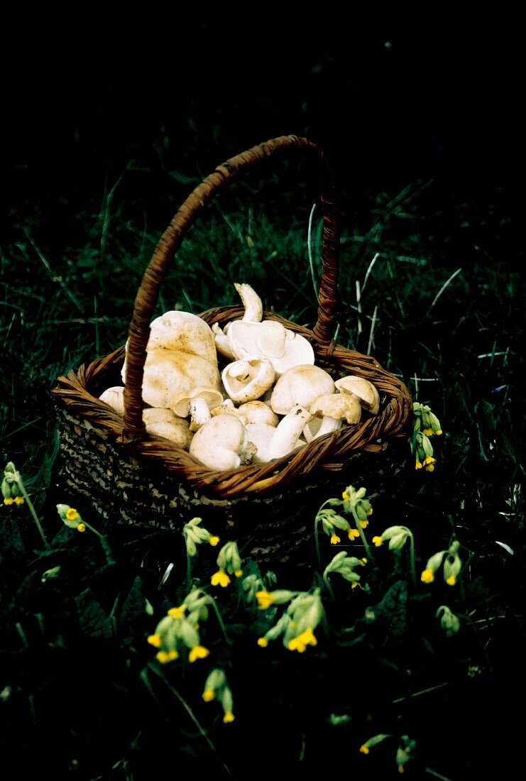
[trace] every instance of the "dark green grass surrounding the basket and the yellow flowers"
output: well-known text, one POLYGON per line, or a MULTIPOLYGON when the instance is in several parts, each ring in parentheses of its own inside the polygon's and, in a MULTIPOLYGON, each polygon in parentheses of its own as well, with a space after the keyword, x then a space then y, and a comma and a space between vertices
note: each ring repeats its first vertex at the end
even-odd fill
MULTIPOLYGON (((55 204, 55 214, 67 216, 63 234, 57 223, 51 231, 43 218, 16 215, 13 241, 2 247, 3 458, 23 473, 52 540, 52 551, 42 551, 26 508, 0 511, 3 756, 20 772, 46 769, 57 778, 147 779, 167 768, 172 776, 286 778, 338 766, 358 778, 389 778, 397 776, 399 737, 409 735, 417 742, 409 777, 460 781, 511 769, 521 748, 511 708, 520 707, 525 650, 524 279, 517 270, 524 245, 514 193, 425 180, 346 194, 344 202, 337 341, 362 352, 370 344, 414 398, 432 406, 445 432, 434 473, 404 469, 393 496, 373 502, 373 533, 409 526, 418 572, 455 534, 465 563, 460 584, 414 588, 404 556, 396 564, 382 547, 371 593, 333 583, 327 632, 305 654, 259 648, 261 613, 240 607, 229 590, 215 596, 233 645, 209 619, 210 658, 161 666, 145 637, 184 595, 183 539, 90 519, 107 535, 110 563, 97 537, 61 527, 54 504, 68 497, 52 469, 49 394, 56 376, 126 339, 137 285, 164 227, 139 197, 145 181, 153 189, 148 177, 129 166, 101 203, 87 199, 81 213, 55 204), (42 583, 42 572, 56 565, 59 577, 42 583), (440 604, 460 616, 454 637, 435 619, 440 604), (374 605, 379 619, 369 623, 365 611, 374 605), (225 667, 233 690, 230 725, 217 704, 201 701, 211 659, 225 667), (360 754, 377 733, 393 737, 360 754)), ((285 166, 286 192, 291 178, 285 166)), ((179 180, 182 200, 194 182, 179 180)), ((240 184, 211 205, 183 244, 159 313, 233 303, 233 282, 245 281, 265 308, 314 323, 319 214, 311 274, 311 194, 299 187, 284 198, 283 182, 240 184)), ((333 495, 344 487, 336 476, 333 495)), ((374 480, 365 487, 375 493, 374 480)), ((302 521, 314 523, 316 510, 302 521)), ((324 537, 324 564, 329 547, 324 537)), ((314 549, 303 563, 315 576, 314 549)), ((195 576, 211 568, 211 549, 201 551, 195 576)), ((291 567, 278 585, 297 588, 297 578, 291 567)))

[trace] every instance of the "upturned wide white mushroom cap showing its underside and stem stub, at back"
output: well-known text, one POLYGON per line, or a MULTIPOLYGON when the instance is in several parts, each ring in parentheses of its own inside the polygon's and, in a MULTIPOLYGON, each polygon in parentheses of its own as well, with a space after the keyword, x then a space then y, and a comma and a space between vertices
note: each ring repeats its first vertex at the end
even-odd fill
POLYGON ((229 324, 228 340, 236 358, 249 355, 268 358, 278 377, 292 366, 315 362, 310 342, 277 320, 263 320, 262 323, 234 320, 229 324))

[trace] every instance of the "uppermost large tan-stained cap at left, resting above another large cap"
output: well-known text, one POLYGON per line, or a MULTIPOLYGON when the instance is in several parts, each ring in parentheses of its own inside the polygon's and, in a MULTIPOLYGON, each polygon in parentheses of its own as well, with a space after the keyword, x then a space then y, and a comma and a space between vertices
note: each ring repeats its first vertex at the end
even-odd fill
POLYGON ((206 361, 217 362, 211 327, 191 312, 165 312, 151 321, 146 349, 150 351, 161 348, 201 355, 206 361))

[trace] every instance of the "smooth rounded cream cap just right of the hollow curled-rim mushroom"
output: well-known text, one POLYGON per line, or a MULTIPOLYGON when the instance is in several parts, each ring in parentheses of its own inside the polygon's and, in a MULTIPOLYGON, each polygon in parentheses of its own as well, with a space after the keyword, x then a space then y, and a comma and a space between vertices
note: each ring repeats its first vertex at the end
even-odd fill
POLYGON ((310 408, 318 396, 334 392, 334 382, 325 369, 311 364, 293 366, 275 383, 270 405, 276 415, 286 415, 296 404, 310 408))

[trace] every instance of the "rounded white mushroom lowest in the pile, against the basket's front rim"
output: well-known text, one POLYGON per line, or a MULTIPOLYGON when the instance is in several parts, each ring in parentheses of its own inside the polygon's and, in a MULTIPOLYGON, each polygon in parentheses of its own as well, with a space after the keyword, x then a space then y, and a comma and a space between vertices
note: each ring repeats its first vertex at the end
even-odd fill
POLYGON ((215 415, 194 434, 190 455, 208 469, 236 469, 249 464, 256 449, 236 415, 215 415))

